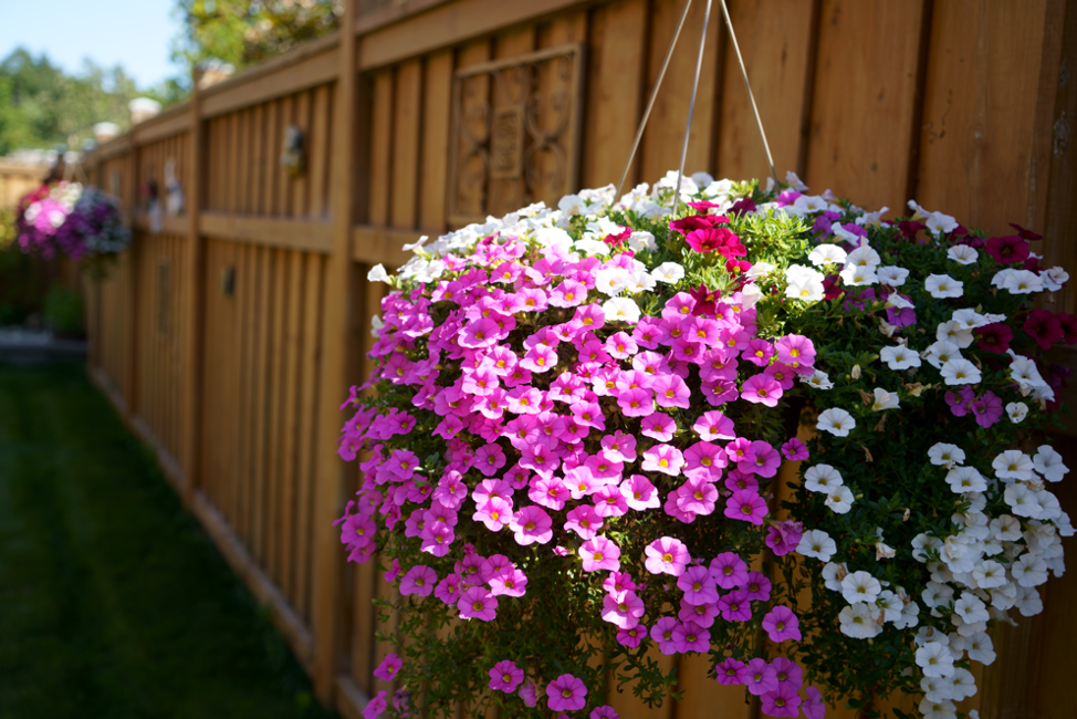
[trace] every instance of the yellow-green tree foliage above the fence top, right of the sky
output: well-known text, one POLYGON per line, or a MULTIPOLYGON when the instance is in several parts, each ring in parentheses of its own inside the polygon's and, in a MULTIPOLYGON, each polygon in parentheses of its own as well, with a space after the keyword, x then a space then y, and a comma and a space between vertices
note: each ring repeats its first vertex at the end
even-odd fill
POLYGON ((237 69, 263 62, 339 27, 342 0, 177 0, 182 34, 172 60, 188 67, 208 58, 237 69))

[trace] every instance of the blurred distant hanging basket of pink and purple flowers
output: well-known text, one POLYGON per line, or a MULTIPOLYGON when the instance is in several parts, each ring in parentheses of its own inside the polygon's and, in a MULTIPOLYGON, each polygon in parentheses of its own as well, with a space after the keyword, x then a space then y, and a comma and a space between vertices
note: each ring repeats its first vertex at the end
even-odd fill
POLYGON ((130 243, 116 200, 80 183, 43 185, 28 194, 19 202, 15 227, 23 252, 46 259, 64 254, 98 273, 130 243))

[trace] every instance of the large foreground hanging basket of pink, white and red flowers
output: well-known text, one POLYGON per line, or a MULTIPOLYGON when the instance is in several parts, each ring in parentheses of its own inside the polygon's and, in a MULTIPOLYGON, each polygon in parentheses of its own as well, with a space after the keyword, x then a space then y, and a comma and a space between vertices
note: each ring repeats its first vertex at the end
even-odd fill
POLYGON ((792 175, 683 178, 673 216, 677 177, 372 271, 393 291, 339 525, 398 588, 375 674, 402 688, 365 716, 616 717, 610 679, 679 696, 651 648, 707 655, 764 716, 891 692, 954 716, 989 627, 1042 611, 1073 534, 1044 356, 1077 323, 1034 309, 1068 280, 1036 236, 889 222, 792 175))

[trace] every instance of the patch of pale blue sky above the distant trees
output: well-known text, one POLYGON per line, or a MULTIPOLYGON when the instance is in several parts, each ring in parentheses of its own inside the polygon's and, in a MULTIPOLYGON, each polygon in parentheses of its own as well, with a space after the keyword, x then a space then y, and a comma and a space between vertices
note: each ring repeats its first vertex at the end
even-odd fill
POLYGON ((177 74, 168 60, 179 31, 174 0, 0 0, 0 59, 22 45, 70 72, 90 58, 121 64, 139 87, 177 74))

